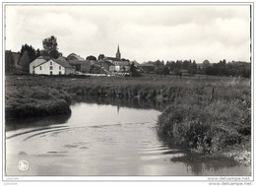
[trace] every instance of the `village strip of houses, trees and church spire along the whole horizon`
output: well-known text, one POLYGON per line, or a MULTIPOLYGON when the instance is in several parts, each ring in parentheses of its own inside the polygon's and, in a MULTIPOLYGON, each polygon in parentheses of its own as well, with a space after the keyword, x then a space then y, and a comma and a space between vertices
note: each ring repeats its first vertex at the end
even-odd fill
MULTIPOLYGON (((121 57, 119 44, 115 56, 99 54, 98 57, 83 56, 70 53, 67 57, 58 51, 57 38, 52 35, 43 39, 42 50, 34 50, 32 45, 25 44, 21 51, 5 51, 5 73, 16 75, 47 76, 132 76, 143 74, 174 76, 227 76, 249 78, 250 63, 244 61, 225 61, 219 63, 205 59, 197 63, 195 60, 150 60, 137 62, 121 57)), ((113 52, 114 53, 114 52, 113 52)))

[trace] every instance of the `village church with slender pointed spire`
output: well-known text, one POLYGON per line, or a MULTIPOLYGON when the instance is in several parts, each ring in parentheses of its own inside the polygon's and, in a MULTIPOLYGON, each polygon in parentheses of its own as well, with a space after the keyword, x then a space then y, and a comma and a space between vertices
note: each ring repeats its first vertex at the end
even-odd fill
POLYGON ((119 44, 115 57, 104 57, 103 61, 108 63, 108 70, 110 72, 130 72, 130 62, 126 59, 121 59, 121 52, 119 44))

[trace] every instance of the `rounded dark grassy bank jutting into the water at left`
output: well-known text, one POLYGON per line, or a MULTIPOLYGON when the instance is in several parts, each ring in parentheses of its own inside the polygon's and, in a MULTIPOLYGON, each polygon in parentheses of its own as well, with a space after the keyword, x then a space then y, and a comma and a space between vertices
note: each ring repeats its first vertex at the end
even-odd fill
POLYGON ((5 117, 29 118, 70 113, 71 98, 53 88, 6 84, 5 117))

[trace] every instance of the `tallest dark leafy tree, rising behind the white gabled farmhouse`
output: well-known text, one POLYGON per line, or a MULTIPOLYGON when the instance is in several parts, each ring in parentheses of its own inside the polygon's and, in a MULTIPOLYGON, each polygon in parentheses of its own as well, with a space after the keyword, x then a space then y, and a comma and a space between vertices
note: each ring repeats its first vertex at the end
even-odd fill
POLYGON ((49 56, 55 59, 60 56, 58 52, 57 38, 54 35, 44 38, 42 40, 42 47, 42 55, 49 56))

